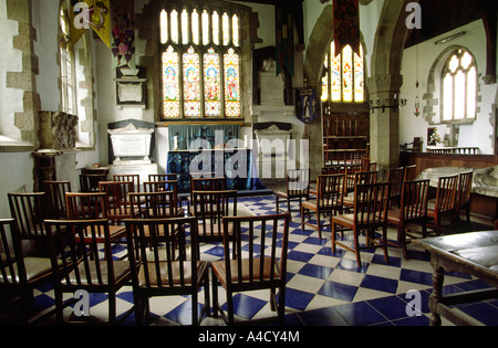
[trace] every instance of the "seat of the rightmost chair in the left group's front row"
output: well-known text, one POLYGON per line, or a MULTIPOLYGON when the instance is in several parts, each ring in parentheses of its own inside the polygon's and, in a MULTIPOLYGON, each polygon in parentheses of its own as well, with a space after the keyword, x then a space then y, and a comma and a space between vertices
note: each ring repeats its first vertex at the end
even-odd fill
MULTIPOLYGON (((231 268, 231 283, 237 284, 239 282, 239 274, 238 274, 238 260, 230 260, 230 268, 231 268)), ((250 268, 249 268, 249 259, 241 260, 242 263, 242 282, 250 282, 250 268)), ((252 282, 258 282, 261 277, 261 259, 255 257, 252 260, 252 282)), ((215 272, 216 276, 218 277, 218 281, 221 283, 224 287, 227 286, 227 268, 225 261, 217 261, 211 263, 212 271, 215 272)), ((264 257, 264 266, 263 266, 263 274, 262 274, 263 281, 271 281, 271 259, 264 257)), ((278 281, 281 278, 280 270, 278 265, 274 265, 273 268, 273 281, 278 281)))

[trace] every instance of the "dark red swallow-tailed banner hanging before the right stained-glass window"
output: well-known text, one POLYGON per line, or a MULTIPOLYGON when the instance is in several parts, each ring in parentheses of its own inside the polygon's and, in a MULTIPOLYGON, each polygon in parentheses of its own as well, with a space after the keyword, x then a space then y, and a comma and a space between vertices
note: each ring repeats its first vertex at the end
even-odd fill
POLYGON ((346 45, 360 54, 359 0, 334 0, 334 45, 338 56, 346 45))

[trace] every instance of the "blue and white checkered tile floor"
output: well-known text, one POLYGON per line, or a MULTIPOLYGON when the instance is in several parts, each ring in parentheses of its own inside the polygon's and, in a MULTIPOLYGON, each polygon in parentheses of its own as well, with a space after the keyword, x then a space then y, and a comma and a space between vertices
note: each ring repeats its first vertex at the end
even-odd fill
MULTIPOLYGON (((274 213, 273 197, 240 198, 246 212, 253 214, 274 213)), ((470 228, 470 225, 469 225, 470 228)), ((401 250, 390 247, 390 263, 385 264, 382 250, 363 251, 362 267, 357 267, 355 255, 338 246, 332 253, 330 229, 323 240, 315 231, 301 230, 300 215, 292 213, 290 225, 288 275, 286 296, 286 325, 428 325, 428 296, 432 292, 432 267, 428 254, 408 245, 411 259, 403 259, 401 250), (406 314, 406 298, 411 289, 421 291, 422 316, 406 314)), ((394 239, 394 231, 390 231, 394 239)), ((351 233, 344 233, 344 240, 351 233)), ((123 246, 115 247, 118 256, 123 246)), ((221 245, 201 245, 201 259, 215 261, 222 257, 221 245)), ((484 288, 484 282, 466 274, 452 273, 445 276, 446 293, 484 288)), ((50 286, 35 291, 35 306, 40 313, 53 308, 53 289, 50 286)), ((133 292, 125 286, 118 294, 118 315, 133 306, 133 292)), ((269 291, 238 294, 235 297, 236 319, 257 320, 276 318, 270 310, 269 291)), ((199 294, 199 300, 204 295, 199 294)), ((226 302, 225 293, 219 291, 219 302, 226 302)), ((105 294, 91 295, 91 315, 107 317, 105 294)), ((225 306, 225 305, 224 305, 225 306)), ((463 306, 461 310, 486 325, 498 325, 498 300, 463 306)), ((188 296, 155 297, 151 299, 151 325, 190 325, 190 300, 188 296)), ((51 324, 53 318, 48 319, 51 324)), ((266 323, 266 320, 261 320, 266 323)), ((125 325, 134 325, 132 315, 125 325)), ((443 323, 449 324, 444 320, 443 323)), ((221 319, 207 318, 203 325, 222 325, 221 319)))

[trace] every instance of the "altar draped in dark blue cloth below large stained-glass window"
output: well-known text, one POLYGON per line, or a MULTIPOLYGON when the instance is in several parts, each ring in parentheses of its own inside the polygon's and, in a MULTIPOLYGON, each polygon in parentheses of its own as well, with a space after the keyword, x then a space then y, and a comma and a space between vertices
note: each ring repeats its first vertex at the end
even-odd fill
POLYGON ((225 177, 227 190, 264 189, 252 150, 247 148, 169 151, 166 172, 178 176, 178 193, 189 192, 190 175, 200 177, 204 172, 225 177))

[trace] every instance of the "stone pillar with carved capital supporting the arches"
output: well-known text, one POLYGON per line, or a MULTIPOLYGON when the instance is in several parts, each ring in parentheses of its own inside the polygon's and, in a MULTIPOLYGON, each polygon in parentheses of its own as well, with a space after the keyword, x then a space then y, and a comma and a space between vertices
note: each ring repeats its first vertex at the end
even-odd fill
MULTIPOLYGON (((401 75, 377 75, 366 80, 370 99, 374 106, 394 105, 403 85, 401 75)), ((400 109, 376 108, 370 112, 370 157, 378 169, 395 168, 400 164, 400 109)))

